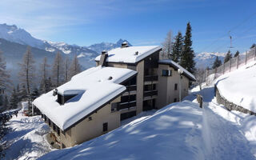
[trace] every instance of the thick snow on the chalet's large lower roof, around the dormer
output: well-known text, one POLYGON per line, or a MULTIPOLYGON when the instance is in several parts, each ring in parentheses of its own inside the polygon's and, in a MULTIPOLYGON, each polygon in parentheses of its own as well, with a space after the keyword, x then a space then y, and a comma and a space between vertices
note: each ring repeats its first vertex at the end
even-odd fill
POLYGON ((129 69, 92 67, 75 75, 70 82, 57 88, 58 94, 78 94, 64 105, 56 102, 58 96, 53 96, 54 90, 42 94, 34 100, 33 104, 59 128, 66 130, 86 115, 98 110, 106 102, 122 94, 126 86, 118 83, 134 74, 137 72, 129 69))

